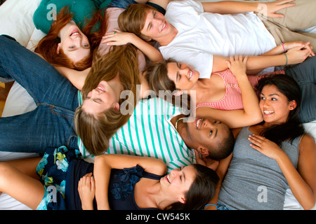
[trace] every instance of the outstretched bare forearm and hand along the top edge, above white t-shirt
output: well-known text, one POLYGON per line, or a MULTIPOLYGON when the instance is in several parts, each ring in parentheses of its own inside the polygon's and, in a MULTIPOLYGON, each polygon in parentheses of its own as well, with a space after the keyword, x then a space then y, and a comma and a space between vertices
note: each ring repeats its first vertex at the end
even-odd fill
POLYGON ((294 0, 275 1, 267 3, 251 3, 242 1, 218 1, 218 2, 203 2, 202 6, 204 12, 207 13, 220 13, 220 14, 234 14, 234 13, 246 13, 246 12, 261 12, 265 10, 268 13, 268 17, 282 18, 283 15, 277 14, 278 10, 283 8, 295 6, 295 3, 291 3, 294 0))

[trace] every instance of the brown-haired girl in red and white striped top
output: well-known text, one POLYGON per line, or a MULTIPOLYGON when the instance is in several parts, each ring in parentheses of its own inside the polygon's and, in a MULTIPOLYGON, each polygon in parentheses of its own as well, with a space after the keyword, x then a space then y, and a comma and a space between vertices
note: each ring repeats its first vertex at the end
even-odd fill
MULTIPOLYGON (((294 57, 291 50, 301 48, 301 44, 304 43, 284 43, 265 55, 282 54, 284 48, 290 49, 284 54, 284 64, 288 64, 288 60, 294 57)), ((187 64, 168 59, 149 66, 145 77, 150 89, 157 94, 159 90, 171 90, 176 98, 186 90, 185 93, 195 102, 197 117, 216 118, 230 128, 245 127, 263 119, 258 108, 258 95, 254 91, 261 77, 246 75, 246 61, 247 57, 230 57, 228 70, 212 73, 210 78, 199 78, 199 72, 187 64)))

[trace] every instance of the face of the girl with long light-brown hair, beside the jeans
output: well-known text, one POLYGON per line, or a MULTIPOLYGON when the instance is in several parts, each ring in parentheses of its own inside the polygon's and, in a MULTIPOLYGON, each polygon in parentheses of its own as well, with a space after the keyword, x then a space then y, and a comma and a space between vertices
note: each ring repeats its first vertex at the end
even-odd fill
POLYGON ((88 92, 82 109, 97 118, 108 109, 119 110, 118 102, 119 93, 108 82, 101 81, 96 89, 88 92))

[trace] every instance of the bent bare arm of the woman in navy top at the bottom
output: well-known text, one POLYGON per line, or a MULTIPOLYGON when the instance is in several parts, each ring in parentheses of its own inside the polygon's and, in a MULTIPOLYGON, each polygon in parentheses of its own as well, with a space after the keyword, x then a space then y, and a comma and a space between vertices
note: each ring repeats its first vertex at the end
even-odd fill
POLYGON ((140 165, 146 172, 157 175, 166 173, 166 165, 162 160, 131 155, 98 155, 94 162, 94 178, 96 181, 96 202, 98 209, 110 209, 107 197, 111 169, 124 169, 140 165))

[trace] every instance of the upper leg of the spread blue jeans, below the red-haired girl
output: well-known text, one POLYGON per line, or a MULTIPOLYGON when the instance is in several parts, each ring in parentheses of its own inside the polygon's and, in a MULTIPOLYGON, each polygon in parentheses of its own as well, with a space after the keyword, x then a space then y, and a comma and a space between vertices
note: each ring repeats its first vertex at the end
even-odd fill
POLYGON ((5 36, 0 36, 0 76, 14 78, 36 104, 52 104, 74 111, 78 90, 51 64, 5 36))

